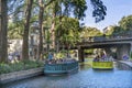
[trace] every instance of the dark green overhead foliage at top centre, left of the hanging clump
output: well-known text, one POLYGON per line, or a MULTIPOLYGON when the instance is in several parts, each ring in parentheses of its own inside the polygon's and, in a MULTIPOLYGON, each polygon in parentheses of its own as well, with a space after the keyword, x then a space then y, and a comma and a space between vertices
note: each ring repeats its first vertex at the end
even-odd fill
POLYGON ((57 15, 74 15, 76 19, 82 19, 86 10, 86 0, 56 0, 54 2, 54 12, 57 15))

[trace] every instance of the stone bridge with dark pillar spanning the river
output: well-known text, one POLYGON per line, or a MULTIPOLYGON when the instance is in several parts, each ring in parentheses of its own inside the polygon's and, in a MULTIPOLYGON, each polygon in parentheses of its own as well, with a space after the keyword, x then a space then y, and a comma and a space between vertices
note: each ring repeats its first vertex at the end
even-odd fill
POLYGON ((78 58, 84 62, 84 50, 89 48, 103 48, 108 55, 111 55, 112 48, 116 50, 117 59, 122 59, 125 54, 131 55, 132 52, 132 36, 94 36, 88 38, 81 38, 81 42, 77 43, 70 48, 78 50, 78 58))

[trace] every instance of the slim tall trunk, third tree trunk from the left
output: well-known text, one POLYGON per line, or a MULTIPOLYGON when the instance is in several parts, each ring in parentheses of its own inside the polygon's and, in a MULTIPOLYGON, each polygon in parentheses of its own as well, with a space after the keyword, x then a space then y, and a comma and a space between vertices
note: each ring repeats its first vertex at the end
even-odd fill
POLYGON ((38 0, 40 4, 40 14, 38 14, 38 32, 40 32, 40 43, 38 43, 38 58, 42 58, 43 54, 43 13, 44 13, 44 6, 43 0, 38 0))

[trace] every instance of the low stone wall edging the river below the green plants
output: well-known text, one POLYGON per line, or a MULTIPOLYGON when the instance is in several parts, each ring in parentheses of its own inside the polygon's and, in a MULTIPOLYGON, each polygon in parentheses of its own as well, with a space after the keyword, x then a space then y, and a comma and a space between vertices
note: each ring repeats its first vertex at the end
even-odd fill
POLYGON ((0 75, 0 84, 24 79, 43 74, 43 67, 0 75))

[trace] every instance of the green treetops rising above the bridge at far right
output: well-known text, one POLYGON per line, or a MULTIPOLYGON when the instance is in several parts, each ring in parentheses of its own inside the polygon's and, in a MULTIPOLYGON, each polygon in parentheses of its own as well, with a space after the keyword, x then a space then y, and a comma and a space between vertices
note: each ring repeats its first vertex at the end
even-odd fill
POLYGON ((131 35, 132 34, 132 15, 123 16, 119 25, 110 25, 107 28, 106 35, 131 35))

